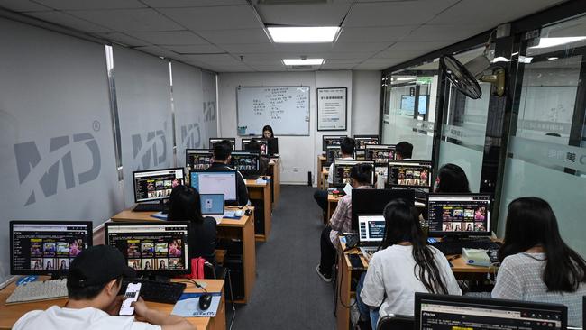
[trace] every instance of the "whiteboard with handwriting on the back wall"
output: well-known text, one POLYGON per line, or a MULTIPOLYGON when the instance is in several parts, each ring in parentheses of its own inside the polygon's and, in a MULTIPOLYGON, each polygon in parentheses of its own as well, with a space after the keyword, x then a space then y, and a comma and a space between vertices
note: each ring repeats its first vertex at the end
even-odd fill
POLYGON ((309 135, 309 87, 236 87, 237 133, 262 135, 270 125, 275 135, 309 135))

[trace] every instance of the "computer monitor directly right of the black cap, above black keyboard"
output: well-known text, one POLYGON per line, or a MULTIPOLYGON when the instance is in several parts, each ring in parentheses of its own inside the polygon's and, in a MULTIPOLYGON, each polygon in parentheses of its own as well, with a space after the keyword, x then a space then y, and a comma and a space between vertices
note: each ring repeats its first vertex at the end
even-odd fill
POLYGON ((188 222, 105 223, 105 243, 124 254, 137 275, 190 272, 188 222))

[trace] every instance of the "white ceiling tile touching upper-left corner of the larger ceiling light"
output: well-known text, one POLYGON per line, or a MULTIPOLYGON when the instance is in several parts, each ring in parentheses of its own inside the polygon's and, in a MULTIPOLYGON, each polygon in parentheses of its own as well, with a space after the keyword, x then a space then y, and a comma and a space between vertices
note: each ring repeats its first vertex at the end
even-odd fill
POLYGON ((162 8, 160 13, 195 32, 262 28, 250 5, 162 8))

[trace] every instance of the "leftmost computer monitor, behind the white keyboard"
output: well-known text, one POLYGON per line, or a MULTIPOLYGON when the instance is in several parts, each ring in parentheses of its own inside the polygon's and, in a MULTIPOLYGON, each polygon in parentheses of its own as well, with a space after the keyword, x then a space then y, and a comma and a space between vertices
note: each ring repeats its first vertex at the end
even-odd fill
POLYGON ((10 273, 64 276, 93 235, 90 221, 11 221, 10 273))

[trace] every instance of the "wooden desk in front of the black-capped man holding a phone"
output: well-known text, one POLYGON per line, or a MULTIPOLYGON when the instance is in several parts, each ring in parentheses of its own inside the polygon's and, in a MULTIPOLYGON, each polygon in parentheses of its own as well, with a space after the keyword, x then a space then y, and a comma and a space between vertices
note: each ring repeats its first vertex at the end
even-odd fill
MULTIPOLYGON (((173 280, 184 282, 186 280, 173 280)), ((220 299, 220 305, 218 306, 215 317, 188 317, 187 320, 192 324, 196 325, 197 330, 225 330, 226 328, 226 316, 225 316, 225 299, 224 299, 224 280, 197 280, 198 283, 206 283, 206 290, 209 292, 221 292, 222 298, 220 299)), ((202 289, 197 289, 193 283, 186 282, 187 287, 185 292, 203 292, 202 289)), ((0 329, 12 329, 14 323, 21 318, 24 314, 32 310, 45 310, 53 305, 65 306, 67 302, 66 298, 56 300, 45 300, 36 301, 24 304, 5 305, 6 299, 13 293, 16 288, 15 281, 8 285, 5 289, 0 290, 0 329)), ((151 301, 147 301, 147 306, 153 309, 157 309, 160 312, 170 314, 175 305, 172 304, 161 304, 151 301)))

